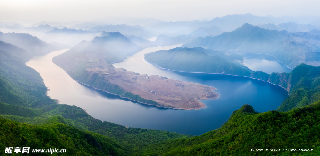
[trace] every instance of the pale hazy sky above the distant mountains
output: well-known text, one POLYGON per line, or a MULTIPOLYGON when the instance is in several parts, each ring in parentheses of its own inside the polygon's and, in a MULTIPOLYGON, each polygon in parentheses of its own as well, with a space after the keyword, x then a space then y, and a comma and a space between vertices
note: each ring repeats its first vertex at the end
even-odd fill
POLYGON ((319 0, 0 0, 0 22, 102 20, 110 16, 181 21, 252 13, 320 15, 319 0))

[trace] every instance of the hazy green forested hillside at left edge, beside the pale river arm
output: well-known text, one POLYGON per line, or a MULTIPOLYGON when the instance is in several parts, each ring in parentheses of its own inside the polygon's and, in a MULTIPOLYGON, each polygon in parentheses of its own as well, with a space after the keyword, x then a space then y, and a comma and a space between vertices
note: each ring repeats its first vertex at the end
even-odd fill
POLYGON ((0 101, 26 107, 56 103, 45 92, 40 74, 9 52, 0 50, 0 101))

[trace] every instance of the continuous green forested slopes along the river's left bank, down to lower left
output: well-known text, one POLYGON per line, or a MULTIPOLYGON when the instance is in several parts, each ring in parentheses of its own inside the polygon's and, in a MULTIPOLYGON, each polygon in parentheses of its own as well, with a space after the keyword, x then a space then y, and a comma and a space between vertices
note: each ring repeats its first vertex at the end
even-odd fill
POLYGON ((5 147, 67 149, 65 155, 135 155, 145 145, 190 137, 126 128, 96 120, 82 108, 56 104, 45 94, 39 73, 8 52, 0 51, 0 56, 0 155, 5 147))

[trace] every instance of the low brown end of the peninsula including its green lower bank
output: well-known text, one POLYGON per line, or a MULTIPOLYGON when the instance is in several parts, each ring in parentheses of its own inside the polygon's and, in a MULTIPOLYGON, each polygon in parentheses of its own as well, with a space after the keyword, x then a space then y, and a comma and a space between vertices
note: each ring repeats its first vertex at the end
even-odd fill
POLYGON ((123 68, 86 69, 84 76, 87 77, 86 81, 80 81, 92 83, 90 86, 93 88, 165 108, 198 109, 204 107, 199 100, 218 97, 218 93, 212 91, 215 90, 213 87, 158 75, 148 76, 123 68), (116 89, 110 90, 112 86, 116 86, 116 89))

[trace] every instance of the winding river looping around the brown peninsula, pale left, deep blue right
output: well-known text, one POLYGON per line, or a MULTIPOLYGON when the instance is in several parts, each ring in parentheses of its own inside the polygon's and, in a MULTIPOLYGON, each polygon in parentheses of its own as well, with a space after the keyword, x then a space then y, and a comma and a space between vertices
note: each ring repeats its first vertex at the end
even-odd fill
POLYGON ((52 63, 52 58, 66 50, 55 51, 32 58, 26 64, 38 71, 50 89, 48 95, 63 104, 86 109, 94 118, 127 127, 168 130, 181 134, 201 135, 219 128, 231 113, 244 104, 250 104, 258 112, 275 110, 288 96, 279 86, 259 80, 223 75, 174 72, 160 69, 143 59, 148 52, 169 50, 181 45, 144 49, 122 63, 114 64, 140 74, 157 74, 167 78, 201 83, 215 87, 219 98, 202 100, 205 108, 176 110, 140 104, 119 96, 85 87, 52 63))

